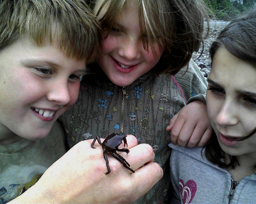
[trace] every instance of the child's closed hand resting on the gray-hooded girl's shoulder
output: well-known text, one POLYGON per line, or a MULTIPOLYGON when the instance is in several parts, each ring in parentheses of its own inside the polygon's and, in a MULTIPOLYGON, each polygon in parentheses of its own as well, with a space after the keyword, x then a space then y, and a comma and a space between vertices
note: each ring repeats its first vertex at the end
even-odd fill
POLYGON ((202 101, 193 101, 184 106, 170 120, 166 131, 171 132, 171 142, 180 147, 202 147, 212 135, 212 127, 202 101))

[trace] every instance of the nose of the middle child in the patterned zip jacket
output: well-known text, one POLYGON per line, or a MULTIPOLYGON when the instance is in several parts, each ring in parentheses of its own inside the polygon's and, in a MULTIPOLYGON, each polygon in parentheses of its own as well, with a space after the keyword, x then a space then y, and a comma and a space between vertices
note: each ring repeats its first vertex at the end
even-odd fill
POLYGON ((120 56, 125 57, 125 59, 127 60, 140 58, 141 48, 143 48, 143 44, 141 40, 136 40, 136 38, 130 37, 118 43, 120 45, 118 49, 118 54, 120 56))

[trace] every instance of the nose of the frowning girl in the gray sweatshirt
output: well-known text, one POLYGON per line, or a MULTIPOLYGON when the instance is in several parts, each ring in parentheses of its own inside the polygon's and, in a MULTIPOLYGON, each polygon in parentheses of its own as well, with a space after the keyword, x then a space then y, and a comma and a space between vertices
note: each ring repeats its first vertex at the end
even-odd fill
POLYGON ((237 116, 239 115, 239 113, 237 113, 237 108, 238 107, 236 107, 232 101, 225 101, 220 107, 216 117, 218 125, 223 127, 236 125, 238 122, 237 116))

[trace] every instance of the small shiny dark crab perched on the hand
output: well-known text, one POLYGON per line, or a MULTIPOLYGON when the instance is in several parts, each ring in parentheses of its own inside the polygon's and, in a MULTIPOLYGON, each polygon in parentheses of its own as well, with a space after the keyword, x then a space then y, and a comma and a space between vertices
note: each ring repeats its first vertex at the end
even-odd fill
POLYGON ((105 174, 108 174, 111 171, 110 167, 109 167, 108 156, 107 156, 106 153, 111 154, 118 161, 120 161, 120 163, 122 163, 125 168, 127 168, 128 170, 132 171, 132 173, 134 173, 134 170, 132 170, 129 167, 130 164, 127 163, 127 161, 124 159, 124 157, 122 157, 122 156, 120 156, 120 154, 116 153, 116 151, 125 152, 126 154, 128 154, 130 152, 129 149, 127 149, 127 148, 118 149, 118 146, 122 143, 123 140, 124 140, 124 147, 125 147, 125 145, 127 147, 126 136, 127 135, 118 134, 118 133, 115 132, 115 133, 112 133, 111 135, 107 136, 103 142, 100 141, 100 137, 98 135, 95 136, 91 147, 94 148, 94 149, 96 148, 96 147, 93 147, 96 140, 101 145, 101 147, 103 149, 103 156, 104 156, 104 159, 106 161, 106 166, 107 166, 107 169, 108 169, 108 171, 105 174))

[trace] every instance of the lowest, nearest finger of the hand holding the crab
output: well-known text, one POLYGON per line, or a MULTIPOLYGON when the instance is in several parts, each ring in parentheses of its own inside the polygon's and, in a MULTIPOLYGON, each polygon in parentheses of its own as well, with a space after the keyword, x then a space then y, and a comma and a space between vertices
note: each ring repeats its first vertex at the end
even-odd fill
POLYGON ((149 163, 132 173, 132 183, 136 186, 132 194, 132 203, 147 193, 162 177, 163 169, 157 163, 149 163))

